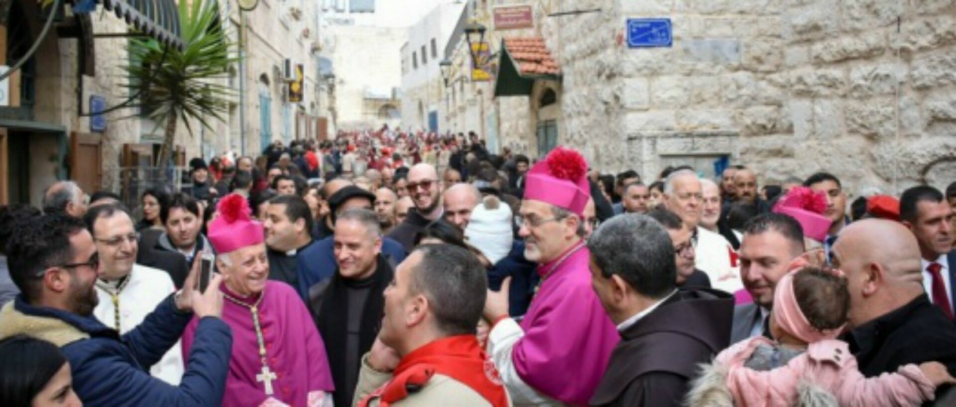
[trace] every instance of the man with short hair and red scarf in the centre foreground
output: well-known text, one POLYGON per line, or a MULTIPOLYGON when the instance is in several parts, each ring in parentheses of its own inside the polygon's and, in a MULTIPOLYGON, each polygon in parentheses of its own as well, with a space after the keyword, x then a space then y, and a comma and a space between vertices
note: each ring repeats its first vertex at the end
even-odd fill
POLYGON ((465 249, 412 252, 385 289, 379 339, 361 361, 358 405, 511 406, 475 336, 487 280, 465 249))

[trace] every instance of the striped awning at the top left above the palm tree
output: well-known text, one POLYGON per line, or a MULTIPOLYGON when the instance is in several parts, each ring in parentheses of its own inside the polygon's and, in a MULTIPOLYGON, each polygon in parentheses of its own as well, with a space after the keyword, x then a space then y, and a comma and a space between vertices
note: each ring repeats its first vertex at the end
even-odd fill
POLYGON ((183 49, 179 9, 175 0, 97 0, 127 24, 163 44, 183 49))

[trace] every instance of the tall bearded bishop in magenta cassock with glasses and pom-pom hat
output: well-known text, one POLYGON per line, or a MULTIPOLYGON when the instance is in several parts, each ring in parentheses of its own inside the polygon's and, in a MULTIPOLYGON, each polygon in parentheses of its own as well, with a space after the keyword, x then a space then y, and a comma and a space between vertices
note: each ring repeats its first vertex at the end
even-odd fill
POLYGON ((591 286, 581 223, 590 191, 573 150, 554 149, 526 175, 519 234, 541 283, 520 324, 508 316, 508 280, 485 306, 489 354, 515 405, 587 405, 619 341, 591 286))

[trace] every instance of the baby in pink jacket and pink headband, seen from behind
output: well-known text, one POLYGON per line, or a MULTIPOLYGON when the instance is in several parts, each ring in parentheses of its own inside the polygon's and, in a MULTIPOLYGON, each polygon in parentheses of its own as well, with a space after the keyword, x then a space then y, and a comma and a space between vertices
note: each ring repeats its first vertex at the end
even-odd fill
POLYGON ((850 299, 846 279, 838 274, 808 266, 781 278, 770 321, 776 340, 753 337, 721 352, 709 372, 705 367, 688 404, 728 405, 730 400, 715 397, 723 395, 738 407, 917 406, 933 399, 936 386, 956 382, 938 362, 909 364, 877 377, 860 374, 847 343, 835 339, 850 299))

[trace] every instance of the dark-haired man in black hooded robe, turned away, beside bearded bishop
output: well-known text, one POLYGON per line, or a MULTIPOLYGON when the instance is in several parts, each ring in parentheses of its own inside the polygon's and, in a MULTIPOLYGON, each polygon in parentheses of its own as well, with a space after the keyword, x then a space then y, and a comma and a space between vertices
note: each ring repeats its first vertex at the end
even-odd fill
POLYGON ((698 365, 730 341, 733 298, 678 290, 670 236, 653 218, 621 214, 588 239, 595 292, 621 341, 593 406, 681 406, 698 365))

